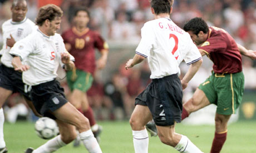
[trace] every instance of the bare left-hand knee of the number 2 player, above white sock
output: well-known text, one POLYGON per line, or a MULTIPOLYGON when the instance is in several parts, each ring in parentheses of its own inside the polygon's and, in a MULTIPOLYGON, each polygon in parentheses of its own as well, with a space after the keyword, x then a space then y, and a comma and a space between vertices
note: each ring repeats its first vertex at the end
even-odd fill
POLYGON ((130 118, 132 129, 142 130, 150 120, 152 120, 152 115, 149 108, 143 105, 136 105, 130 118))

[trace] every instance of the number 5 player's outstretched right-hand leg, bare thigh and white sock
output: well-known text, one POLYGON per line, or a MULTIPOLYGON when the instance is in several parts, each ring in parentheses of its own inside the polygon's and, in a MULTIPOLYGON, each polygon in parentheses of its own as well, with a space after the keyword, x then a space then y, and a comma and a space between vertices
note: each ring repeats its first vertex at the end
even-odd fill
POLYGON ((80 132, 80 139, 89 152, 102 152, 90 129, 88 119, 72 104, 66 103, 60 109, 53 111, 53 115, 55 115, 58 120, 76 126, 76 129, 80 132))

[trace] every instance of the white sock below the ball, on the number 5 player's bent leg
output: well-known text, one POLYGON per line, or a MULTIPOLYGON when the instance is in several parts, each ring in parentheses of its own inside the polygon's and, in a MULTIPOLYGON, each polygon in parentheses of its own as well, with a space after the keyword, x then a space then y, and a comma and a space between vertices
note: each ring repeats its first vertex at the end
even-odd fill
POLYGON ((42 146, 38 147, 33 151, 33 153, 50 153, 60 149, 63 146, 66 146, 65 142, 61 140, 61 135, 57 135, 42 146))

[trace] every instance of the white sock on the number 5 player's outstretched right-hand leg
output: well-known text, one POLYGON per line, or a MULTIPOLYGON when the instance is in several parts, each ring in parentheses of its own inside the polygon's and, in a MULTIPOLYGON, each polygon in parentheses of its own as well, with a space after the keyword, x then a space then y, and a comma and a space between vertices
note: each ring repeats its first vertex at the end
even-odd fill
POLYGON ((85 132, 81 132, 80 139, 90 153, 102 153, 100 145, 98 144, 96 138, 93 136, 91 129, 85 132))

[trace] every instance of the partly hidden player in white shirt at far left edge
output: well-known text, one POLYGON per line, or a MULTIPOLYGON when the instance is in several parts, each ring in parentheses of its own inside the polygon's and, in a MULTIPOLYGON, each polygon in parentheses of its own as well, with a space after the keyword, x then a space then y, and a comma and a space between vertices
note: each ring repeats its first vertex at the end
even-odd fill
POLYGON ((28 85, 22 81, 22 74, 13 69, 12 56, 9 50, 16 41, 25 38, 28 34, 36 29, 35 23, 26 18, 27 3, 25 0, 14 0, 11 6, 12 18, 2 24, 3 31, 3 48, 1 49, 0 64, 0 153, 7 152, 6 144, 3 139, 3 123, 4 115, 2 106, 7 98, 12 94, 19 92, 24 96, 28 105, 33 109, 31 99, 29 97, 28 85))

